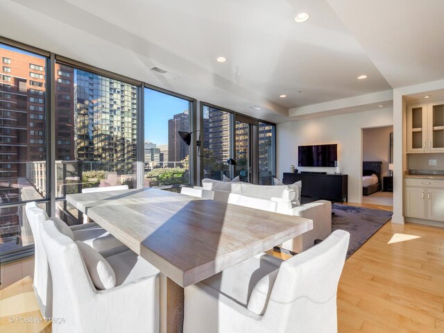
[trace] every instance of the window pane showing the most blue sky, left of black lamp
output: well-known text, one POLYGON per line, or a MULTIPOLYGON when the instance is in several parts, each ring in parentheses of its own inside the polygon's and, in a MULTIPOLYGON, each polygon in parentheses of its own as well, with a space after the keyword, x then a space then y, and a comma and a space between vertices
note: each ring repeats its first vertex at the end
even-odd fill
POLYGON ((190 184, 190 145, 179 131, 191 133, 192 102, 157 90, 144 89, 144 186, 190 184))

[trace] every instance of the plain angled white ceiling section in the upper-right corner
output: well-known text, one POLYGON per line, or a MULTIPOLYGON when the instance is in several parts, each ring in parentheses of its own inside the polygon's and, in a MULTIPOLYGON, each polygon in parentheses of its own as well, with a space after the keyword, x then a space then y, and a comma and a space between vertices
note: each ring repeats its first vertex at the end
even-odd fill
POLYGON ((444 78, 443 0, 327 1, 393 88, 444 78))

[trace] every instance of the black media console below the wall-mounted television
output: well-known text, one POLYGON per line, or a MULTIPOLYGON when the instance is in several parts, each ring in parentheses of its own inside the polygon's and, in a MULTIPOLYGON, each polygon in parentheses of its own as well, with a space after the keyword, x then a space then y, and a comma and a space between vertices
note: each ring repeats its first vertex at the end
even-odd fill
POLYGON ((339 203, 348 200, 348 175, 284 172, 284 184, 293 184, 293 182, 299 180, 302 180, 301 196, 332 200, 339 203))

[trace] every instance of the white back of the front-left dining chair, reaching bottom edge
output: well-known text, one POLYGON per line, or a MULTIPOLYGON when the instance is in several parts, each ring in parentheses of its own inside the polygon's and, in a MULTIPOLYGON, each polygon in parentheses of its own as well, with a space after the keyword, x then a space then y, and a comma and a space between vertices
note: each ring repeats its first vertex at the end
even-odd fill
MULTIPOLYGON (((96 301, 96 289, 87 274, 74 241, 62 234, 53 221, 40 224, 46 256, 53 282, 53 318, 64 318, 67 324, 54 325, 53 332, 81 332, 80 323, 90 318, 83 309, 96 301)), ((93 323, 90 323, 93 325, 93 323)))

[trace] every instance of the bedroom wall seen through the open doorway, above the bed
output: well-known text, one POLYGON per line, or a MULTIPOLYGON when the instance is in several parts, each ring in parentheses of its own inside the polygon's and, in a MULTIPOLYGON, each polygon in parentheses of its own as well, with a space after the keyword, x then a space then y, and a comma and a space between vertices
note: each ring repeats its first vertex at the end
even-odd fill
POLYGON ((366 128, 362 132, 362 160, 381 161, 381 177, 389 174, 390 133, 393 133, 393 126, 366 128))

